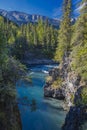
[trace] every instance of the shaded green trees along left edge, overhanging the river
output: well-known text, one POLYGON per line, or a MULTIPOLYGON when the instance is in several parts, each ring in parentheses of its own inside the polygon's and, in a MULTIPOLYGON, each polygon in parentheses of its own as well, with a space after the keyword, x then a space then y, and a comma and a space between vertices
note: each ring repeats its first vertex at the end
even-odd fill
MULTIPOLYGON (((13 27, 13 24, 11 26, 13 27)), ((12 28, 10 29, 12 31, 12 28)), ((6 23, 0 17, 0 101, 3 102, 16 98, 16 82, 25 75, 25 67, 8 53, 7 37, 6 23)))

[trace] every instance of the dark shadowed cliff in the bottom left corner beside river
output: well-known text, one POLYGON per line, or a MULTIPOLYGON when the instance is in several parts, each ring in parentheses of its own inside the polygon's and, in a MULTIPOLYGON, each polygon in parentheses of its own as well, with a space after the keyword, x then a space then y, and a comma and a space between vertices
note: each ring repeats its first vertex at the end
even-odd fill
POLYGON ((0 130, 22 130, 18 106, 12 99, 0 101, 0 130))

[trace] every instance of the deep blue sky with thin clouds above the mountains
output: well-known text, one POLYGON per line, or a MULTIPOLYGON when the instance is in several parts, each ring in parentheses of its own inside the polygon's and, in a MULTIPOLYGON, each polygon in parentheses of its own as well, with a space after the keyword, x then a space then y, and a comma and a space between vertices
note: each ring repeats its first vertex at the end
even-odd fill
MULTIPOLYGON (((79 7, 77 6, 79 1, 73 0, 75 16, 79 13, 79 7)), ((60 18, 62 15, 62 3, 63 0, 0 0, 0 9, 60 18)))

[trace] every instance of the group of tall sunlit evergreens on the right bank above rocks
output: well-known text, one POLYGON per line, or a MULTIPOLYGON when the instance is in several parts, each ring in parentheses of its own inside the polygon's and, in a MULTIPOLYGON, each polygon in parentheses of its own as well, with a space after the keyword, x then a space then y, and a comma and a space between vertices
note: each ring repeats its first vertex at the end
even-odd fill
MULTIPOLYGON (((58 36, 58 47, 56 49, 55 59, 60 61, 62 68, 66 67, 65 76, 69 72, 73 72, 80 77, 80 84, 83 87, 82 90, 82 102, 87 104, 87 4, 86 0, 82 0, 81 5, 84 4, 80 10, 80 16, 78 17, 74 25, 71 24, 72 18, 72 2, 64 3, 64 15, 63 21, 60 25, 58 36)), ((60 81, 63 81, 59 77, 60 81)), ((58 81, 59 81, 58 80, 58 81)))

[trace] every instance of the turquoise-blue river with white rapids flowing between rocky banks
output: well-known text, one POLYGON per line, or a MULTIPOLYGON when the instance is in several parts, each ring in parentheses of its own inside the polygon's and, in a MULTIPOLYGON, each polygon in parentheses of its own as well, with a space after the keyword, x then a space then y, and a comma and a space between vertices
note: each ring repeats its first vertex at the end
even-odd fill
POLYGON ((43 86, 48 71, 56 65, 37 65, 29 67, 28 75, 32 83, 17 83, 17 98, 22 130, 61 130, 66 112, 62 101, 44 98, 43 86))

